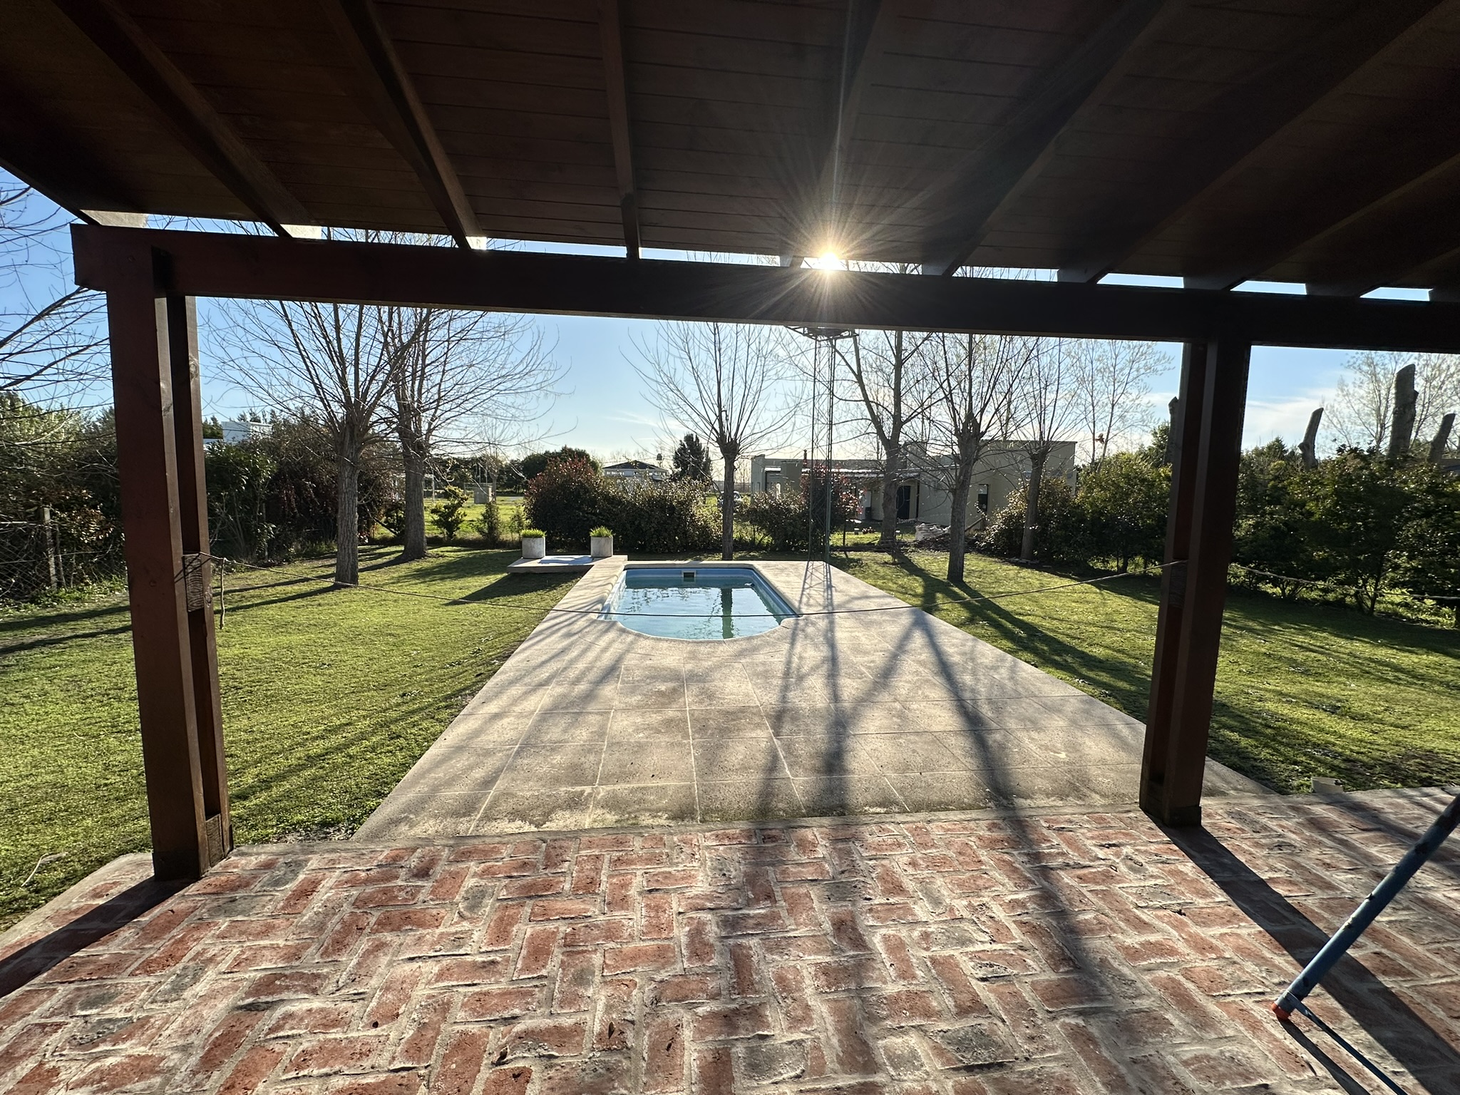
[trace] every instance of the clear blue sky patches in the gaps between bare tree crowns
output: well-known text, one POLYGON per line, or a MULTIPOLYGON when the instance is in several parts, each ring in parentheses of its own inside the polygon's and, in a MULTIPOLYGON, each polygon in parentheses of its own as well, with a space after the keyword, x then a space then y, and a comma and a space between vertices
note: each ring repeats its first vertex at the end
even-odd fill
MULTIPOLYGON (((44 199, 38 197, 35 203, 38 212, 54 210, 54 206, 44 199)), ((57 210, 55 223, 60 226, 64 220, 66 215, 57 210)), ((26 269, 19 282, 0 285, 0 304, 6 311, 19 307, 22 296, 39 299, 53 291, 64 292, 70 280, 64 231, 57 231, 53 239, 55 261, 39 263, 26 269)), ((569 250, 553 245, 527 247, 569 250)), ((1172 282, 1172 279, 1124 276, 1108 280, 1155 285, 1172 282)), ((210 352, 212 330, 225 321, 220 308, 200 302, 200 321, 206 412, 229 418, 254 403, 247 393, 228 383, 219 369, 216 355, 210 352)), ((637 336, 642 340, 651 336, 654 324, 641 320, 587 317, 533 317, 530 323, 542 330, 546 343, 553 347, 555 359, 566 368, 564 394, 537 423, 536 432, 549 435, 553 445, 572 444, 599 456, 623 453, 653 457, 663 431, 657 415, 642 399, 641 381, 631 361, 632 339, 637 336)), ((1161 409, 1175 394, 1180 381, 1180 347, 1172 343, 1164 349, 1171 365, 1150 383, 1152 403, 1161 409)), ((1333 391, 1345 358, 1346 353, 1340 350, 1256 347, 1244 444, 1261 444, 1278 435, 1289 442, 1296 441, 1313 407, 1323 403, 1333 391)))

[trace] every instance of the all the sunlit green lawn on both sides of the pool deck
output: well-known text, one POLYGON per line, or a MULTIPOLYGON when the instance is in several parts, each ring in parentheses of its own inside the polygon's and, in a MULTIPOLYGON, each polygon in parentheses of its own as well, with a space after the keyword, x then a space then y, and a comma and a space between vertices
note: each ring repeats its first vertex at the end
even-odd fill
MULTIPOLYGON (((756 558, 750 552, 743 558, 756 558)), ((219 673, 239 842, 349 835, 556 603, 571 578, 505 578, 515 550, 437 548, 330 591, 330 561, 229 578, 219 673), (458 599, 444 603, 435 597, 458 599)), ((971 555, 851 574, 1077 688, 1145 715, 1158 583, 1070 578, 971 555), (955 602, 955 603, 949 603, 955 602)), ((1212 755, 1279 790, 1460 783, 1460 632, 1234 590, 1212 755)), ((121 596, 0 615, 0 927, 124 851, 143 850, 136 683, 121 596), (23 885, 38 860, 48 860, 23 885)))

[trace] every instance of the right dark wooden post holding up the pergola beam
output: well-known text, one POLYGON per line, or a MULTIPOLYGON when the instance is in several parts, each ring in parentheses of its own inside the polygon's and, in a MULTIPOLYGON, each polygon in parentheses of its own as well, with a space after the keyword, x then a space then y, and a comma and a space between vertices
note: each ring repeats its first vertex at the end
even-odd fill
POLYGON ((1140 807, 1167 825, 1202 822, 1202 780, 1216 688, 1242 451, 1251 343, 1187 343, 1172 423, 1175 454, 1156 618, 1140 807))

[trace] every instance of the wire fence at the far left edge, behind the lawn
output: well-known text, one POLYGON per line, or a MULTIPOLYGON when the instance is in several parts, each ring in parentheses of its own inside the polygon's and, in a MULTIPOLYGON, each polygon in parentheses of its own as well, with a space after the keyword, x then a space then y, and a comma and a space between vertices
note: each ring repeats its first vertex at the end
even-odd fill
POLYGON ((126 572, 121 534, 105 518, 50 514, 0 520, 0 600, 26 602, 126 572))

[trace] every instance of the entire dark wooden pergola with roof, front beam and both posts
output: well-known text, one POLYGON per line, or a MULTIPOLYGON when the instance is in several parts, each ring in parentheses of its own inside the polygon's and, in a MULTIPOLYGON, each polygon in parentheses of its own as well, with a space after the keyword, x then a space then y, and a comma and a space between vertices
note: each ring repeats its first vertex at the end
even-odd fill
POLYGON ((1183 342, 1140 802, 1197 823, 1251 347, 1460 353, 1457 91, 1460 0, 0 0, 0 165, 107 293, 156 873, 232 842, 199 296, 1183 342))

